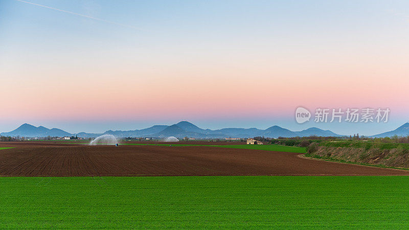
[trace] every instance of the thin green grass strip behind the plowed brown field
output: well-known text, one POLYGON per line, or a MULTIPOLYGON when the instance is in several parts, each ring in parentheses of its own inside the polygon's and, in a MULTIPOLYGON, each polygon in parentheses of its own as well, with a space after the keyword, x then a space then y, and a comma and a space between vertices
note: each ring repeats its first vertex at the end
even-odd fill
MULTIPOLYGON (((169 144, 139 144, 139 143, 124 143, 121 145, 156 145, 156 146, 169 146, 169 144)), ((172 144, 172 146, 212 146, 221 148, 235 148, 235 149, 257 149, 268 151, 281 151, 281 152, 296 152, 305 153, 305 148, 292 147, 283 145, 194 145, 194 144, 172 144)))

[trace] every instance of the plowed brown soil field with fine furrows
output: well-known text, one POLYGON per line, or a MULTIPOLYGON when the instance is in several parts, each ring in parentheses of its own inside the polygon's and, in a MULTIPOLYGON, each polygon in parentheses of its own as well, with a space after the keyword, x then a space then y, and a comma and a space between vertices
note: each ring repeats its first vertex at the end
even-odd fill
POLYGON ((44 145, 18 144, 0 150, 0 176, 409 175, 404 170, 252 149, 44 145))

